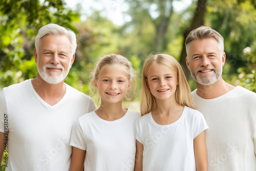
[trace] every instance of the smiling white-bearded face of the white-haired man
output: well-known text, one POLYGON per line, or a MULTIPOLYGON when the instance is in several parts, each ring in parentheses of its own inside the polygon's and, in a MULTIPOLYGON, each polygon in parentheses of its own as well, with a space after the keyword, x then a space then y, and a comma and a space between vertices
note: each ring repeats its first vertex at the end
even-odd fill
POLYGON ((46 35, 40 39, 38 50, 34 50, 39 76, 50 84, 63 81, 74 62, 71 42, 67 36, 46 35))

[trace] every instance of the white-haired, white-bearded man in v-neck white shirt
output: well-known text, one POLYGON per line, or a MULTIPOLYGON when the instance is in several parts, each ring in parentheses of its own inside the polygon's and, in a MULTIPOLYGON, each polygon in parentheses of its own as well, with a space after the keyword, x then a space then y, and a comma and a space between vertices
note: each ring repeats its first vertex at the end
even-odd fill
POLYGON ((75 50, 72 30, 56 24, 40 28, 37 77, 0 92, 0 158, 8 145, 6 170, 69 170, 73 122, 96 110, 91 97, 64 83, 75 50))

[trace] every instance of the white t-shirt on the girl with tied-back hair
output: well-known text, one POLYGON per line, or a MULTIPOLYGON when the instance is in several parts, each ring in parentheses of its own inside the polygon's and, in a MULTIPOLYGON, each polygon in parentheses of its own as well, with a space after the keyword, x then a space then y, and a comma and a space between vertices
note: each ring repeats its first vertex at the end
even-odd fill
POLYGON ((106 121, 95 112, 81 116, 73 125, 70 145, 86 151, 84 171, 134 170, 135 121, 140 113, 127 110, 115 121, 106 121))

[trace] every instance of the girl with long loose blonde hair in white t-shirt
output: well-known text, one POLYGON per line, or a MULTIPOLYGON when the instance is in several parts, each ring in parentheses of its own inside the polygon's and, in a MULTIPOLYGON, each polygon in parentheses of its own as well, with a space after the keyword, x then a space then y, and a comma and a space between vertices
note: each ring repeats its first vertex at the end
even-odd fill
POLYGON ((135 170, 207 170, 203 115, 194 109, 180 63, 167 54, 144 62, 136 122, 135 170))

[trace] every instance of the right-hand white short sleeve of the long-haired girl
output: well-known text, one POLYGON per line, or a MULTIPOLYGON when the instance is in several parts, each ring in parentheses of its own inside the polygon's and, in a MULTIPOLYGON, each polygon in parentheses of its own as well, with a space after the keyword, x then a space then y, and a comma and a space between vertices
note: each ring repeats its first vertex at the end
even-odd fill
POLYGON ((197 111, 193 117, 193 132, 194 132, 194 139, 201 134, 203 131, 208 129, 208 125, 203 117, 203 114, 197 111))

